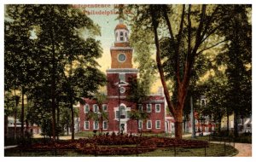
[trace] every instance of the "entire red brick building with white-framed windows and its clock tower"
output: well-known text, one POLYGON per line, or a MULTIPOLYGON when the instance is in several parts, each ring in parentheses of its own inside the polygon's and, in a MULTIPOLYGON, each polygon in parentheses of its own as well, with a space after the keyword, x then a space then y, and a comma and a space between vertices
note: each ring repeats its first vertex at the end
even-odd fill
MULTIPOLYGON (((139 130, 160 133, 166 131, 165 97, 163 95, 148 95, 148 100, 143 101, 140 110, 149 113, 146 120, 130 119, 131 110, 136 109, 136 103, 127 100, 128 79, 137 78, 138 70, 132 67, 133 49, 128 41, 129 30, 120 22, 114 29, 115 42, 110 48, 111 68, 107 70, 107 95, 108 99, 102 104, 102 111, 108 113, 108 121, 88 119, 89 112, 99 112, 99 105, 94 100, 84 98, 85 104, 79 107, 79 130, 102 130, 104 132, 137 133, 139 130), (120 130, 119 130, 120 129, 120 130)), ((168 129, 169 130, 169 129, 168 129)))

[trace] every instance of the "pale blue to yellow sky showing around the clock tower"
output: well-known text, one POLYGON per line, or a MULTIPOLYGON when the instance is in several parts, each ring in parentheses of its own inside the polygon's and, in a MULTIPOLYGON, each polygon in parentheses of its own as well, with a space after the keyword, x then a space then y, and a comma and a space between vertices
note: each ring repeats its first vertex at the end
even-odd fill
MULTIPOLYGON (((114 28, 119 24, 117 20, 118 14, 114 14, 114 4, 107 5, 73 5, 73 7, 79 7, 82 11, 87 11, 87 15, 96 24, 101 27, 101 36, 97 36, 96 39, 102 43, 103 54, 102 57, 97 59, 97 62, 101 66, 102 72, 106 72, 111 67, 110 47, 114 43, 114 28)), ((115 9, 115 11, 117 11, 115 9)), ((125 24, 131 32, 130 26, 125 24)), ((133 56, 136 52, 133 51, 133 56)), ((136 68, 136 63, 133 62, 133 68, 136 68)), ((158 75, 158 74, 156 74, 158 75)), ((160 78, 158 77, 153 86, 151 87, 151 93, 158 92, 158 88, 161 87, 160 78)))

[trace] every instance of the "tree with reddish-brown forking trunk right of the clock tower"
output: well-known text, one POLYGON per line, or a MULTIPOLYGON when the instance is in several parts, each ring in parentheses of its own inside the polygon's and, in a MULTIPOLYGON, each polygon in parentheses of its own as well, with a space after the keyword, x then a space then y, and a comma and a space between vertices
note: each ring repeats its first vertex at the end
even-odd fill
MULTIPOLYGON (((134 27, 142 27, 147 32, 153 33, 160 80, 164 88, 168 108, 175 119, 175 136, 176 138, 182 138, 183 108, 195 60, 205 50, 224 42, 222 38, 219 39, 219 42, 210 39, 224 25, 219 21, 222 18, 220 17, 222 10, 220 5, 207 6, 205 4, 182 6, 132 5, 131 8, 135 13, 131 15, 134 27), (174 23, 178 25, 175 26, 174 23), (163 32, 160 32, 161 29, 163 32), (166 84, 166 74, 161 62, 160 37, 165 36, 171 38, 172 47, 174 47, 169 52, 175 55, 176 101, 171 100, 166 84), (183 40, 186 41, 182 43, 183 40), (182 50, 183 45, 186 47, 185 52, 182 50)), ((136 30, 134 31, 136 32, 136 30)))

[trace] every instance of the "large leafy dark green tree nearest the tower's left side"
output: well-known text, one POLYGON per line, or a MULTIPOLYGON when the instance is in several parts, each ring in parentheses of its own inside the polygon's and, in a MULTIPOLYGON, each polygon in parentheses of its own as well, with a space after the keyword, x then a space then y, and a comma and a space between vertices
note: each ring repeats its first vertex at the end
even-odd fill
MULTIPOLYGON (((35 77, 30 84, 31 94, 28 95, 33 101, 32 107, 40 105, 45 108, 45 112, 49 112, 50 107, 51 133, 55 140, 55 110, 58 102, 69 102, 73 113, 74 101, 80 100, 80 96, 90 95, 104 81, 104 75, 97 69, 98 64, 95 61, 101 56, 102 49, 98 41, 90 38, 100 32, 90 18, 70 5, 13 6, 9 8, 9 16, 20 20, 21 25, 22 20, 29 22, 25 29, 32 32, 30 36, 34 36, 32 62, 36 62, 37 68, 32 68, 35 77), (19 13, 17 15, 20 17, 16 13, 19 13), (84 30, 88 31, 90 37, 81 38, 81 32, 84 30), (77 62, 78 68, 73 69, 73 63, 77 62), (68 64, 72 68, 69 69, 70 75, 65 76, 68 64), (94 82, 91 82, 91 78, 95 78, 94 82), (67 85, 69 93, 63 94, 63 84, 67 85)), ((29 48, 26 44, 23 45, 25 49, 29 48)), ((27 65, 29 62, 24 63, 27 65)), ((32 74, 27 73, 30 76, 32 74)))

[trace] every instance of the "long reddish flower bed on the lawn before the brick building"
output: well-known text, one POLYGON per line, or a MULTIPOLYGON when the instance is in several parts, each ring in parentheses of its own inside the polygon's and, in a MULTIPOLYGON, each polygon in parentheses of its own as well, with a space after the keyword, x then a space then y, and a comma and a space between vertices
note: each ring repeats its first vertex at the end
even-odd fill
MULTIPOLYGON (((205 148, 208 142, 197 140, 177 140, 167 137, 149 136, 94 136, 90 139, 66 140, 59 142, 37 143, 22 148, 29 152, 37 150, 76 150, 93 155, 127 155, 147 153, 157 148, 205 148)), ((16 148, 20 149, 20 148, 16 148)))

